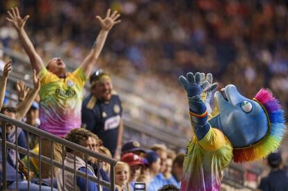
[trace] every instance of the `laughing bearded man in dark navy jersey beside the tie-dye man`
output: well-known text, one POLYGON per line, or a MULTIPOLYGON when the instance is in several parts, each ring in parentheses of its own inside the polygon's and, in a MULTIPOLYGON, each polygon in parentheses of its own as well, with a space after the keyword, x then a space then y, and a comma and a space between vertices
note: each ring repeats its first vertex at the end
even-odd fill
POLYGON ((123 133, 121 101, 106 72, 93 73, 90 84, 91 94, 82 106, 82 126, 98 135, 104 147, 120 160, 123 133))

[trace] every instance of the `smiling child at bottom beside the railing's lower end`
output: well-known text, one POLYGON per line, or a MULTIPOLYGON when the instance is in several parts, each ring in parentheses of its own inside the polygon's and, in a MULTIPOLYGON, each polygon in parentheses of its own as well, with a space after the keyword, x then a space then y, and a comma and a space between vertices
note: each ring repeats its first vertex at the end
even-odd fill
POLYGON ((118 185, 118 191, 133 190, 129 185, 129 165, 119 161, 115 165, 115 184, 118 185))

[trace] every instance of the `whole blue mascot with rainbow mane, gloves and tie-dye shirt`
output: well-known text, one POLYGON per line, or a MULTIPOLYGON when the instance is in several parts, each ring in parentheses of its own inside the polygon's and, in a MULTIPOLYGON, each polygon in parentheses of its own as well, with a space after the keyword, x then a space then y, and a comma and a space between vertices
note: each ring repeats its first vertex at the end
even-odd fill
POLYGON ((285 119, 278 100, 268 90, 248 99, 234 85, 215 93, 212 75, 188 73, 179 77, 189 99, 194 135, 186 149, 181 190, 220 190, 222 170, 236 163, 264 158, 285 134, 285 119), (209 114, 209 111, 211 113, 209 114))

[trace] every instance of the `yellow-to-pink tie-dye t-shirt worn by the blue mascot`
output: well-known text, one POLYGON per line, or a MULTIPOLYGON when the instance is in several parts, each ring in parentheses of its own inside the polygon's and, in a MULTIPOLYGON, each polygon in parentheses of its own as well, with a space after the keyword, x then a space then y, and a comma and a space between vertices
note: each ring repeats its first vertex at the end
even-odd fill
POLYGON ((230 164, 232 150, 230 141, 216 128, 210 127, 200 141, 193 135, 186 148, 181 190, 220 190, 222 170, 230 164))

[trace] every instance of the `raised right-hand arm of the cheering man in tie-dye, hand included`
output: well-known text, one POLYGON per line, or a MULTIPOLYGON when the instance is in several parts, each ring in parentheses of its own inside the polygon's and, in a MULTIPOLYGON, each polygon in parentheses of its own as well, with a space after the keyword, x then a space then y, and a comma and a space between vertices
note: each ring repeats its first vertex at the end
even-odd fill
POLYGON ((116 10, 111 14, 110 9, 107 10, 106 17, 104 19, 102 19, 99 16, 96 17, 99 20, 102 29, 100 33, 98 34, 97 39, 94 42, 92 49, 90 50, 90 53, 83 60, 83 63, 81 63, 80 67, 83 69, 86 76, 90 76, 93 66, 95 65, 104 47, 109 31, 115 24, 118 24, 121 22, 121 20, 117 20, 119 17, 120 17, 120 14, 118 14, 116 10))

